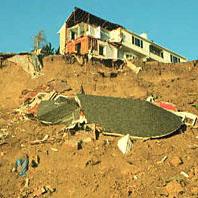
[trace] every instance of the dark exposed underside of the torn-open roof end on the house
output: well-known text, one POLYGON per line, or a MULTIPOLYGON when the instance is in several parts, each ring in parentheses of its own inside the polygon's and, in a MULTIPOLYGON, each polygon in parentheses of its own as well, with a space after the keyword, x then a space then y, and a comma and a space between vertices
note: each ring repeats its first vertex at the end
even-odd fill
POLYGON ((72 27, 81 22, 85 22, 90 25, 101 26, 102 28, 107 29, 107 30, 113 30, 118 27, 122 27, 118 24, 104 20, 85 10, 75 7, 74 11, 72 12, 72 14, 69 16, 69 18, 66 21, 67 27, 72 27))

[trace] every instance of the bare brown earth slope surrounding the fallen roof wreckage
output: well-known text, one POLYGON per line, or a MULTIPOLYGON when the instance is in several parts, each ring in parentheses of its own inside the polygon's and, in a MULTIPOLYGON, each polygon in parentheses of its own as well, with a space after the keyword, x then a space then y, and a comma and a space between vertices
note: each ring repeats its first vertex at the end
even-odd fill
POLYGON ((20 65, 9 63, 1 68, 0 133, 8 136, 0 144, 0 197, 198 197, 196 127, 161 139, 134 140, 131 152, 123 155, 117 147, 119 137, 95 140, 93 133, 86 131, 68 135, 62 130, 64 125, 20 119, 14 111, 21 104, 23 90, 58 79, 71 87, 65 95, 79 93, 81 85, 85 93, 93 95, 143 100, 153 94, 180 111, 198 115, 192 106, 198 104, 196 62, 139 66, 143 69, 138 75, 124 68, 112 78, 101 73, 117 72, 115 69, 70 65, 61 56, 46 57, 42 75, 35 79, 20 65), (46 135, 45 143, 31 144, 46 135), (78 141, 83 142, 81 149, 77 149, 78 141), (27 175, 21 177, 12 168, 24 154, 30 162, 39 156, 40 163, 35 168, 30 163, 27 175), (46 186, 51 192, 42 191, 46 186))

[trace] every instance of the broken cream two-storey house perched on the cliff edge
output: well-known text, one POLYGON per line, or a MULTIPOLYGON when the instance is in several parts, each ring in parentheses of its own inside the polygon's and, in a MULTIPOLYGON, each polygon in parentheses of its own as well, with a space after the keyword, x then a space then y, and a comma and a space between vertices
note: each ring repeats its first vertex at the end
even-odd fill
POLYGON ((138 35, 119 24, 75 8, 59 30, 60 53, 88 55, 111 60, 142 59, 163 63, 186 62, 187 59, 138 35))

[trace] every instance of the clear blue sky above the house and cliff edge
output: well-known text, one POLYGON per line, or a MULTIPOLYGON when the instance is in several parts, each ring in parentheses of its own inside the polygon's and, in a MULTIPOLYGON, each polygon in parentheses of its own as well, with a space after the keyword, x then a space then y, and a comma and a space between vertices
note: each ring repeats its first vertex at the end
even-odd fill
POLYGON ((0 52, 32 50, 39 31, 58 48, 57 32, 75 6, 198 59, 198 0, 1 0, 0 52))

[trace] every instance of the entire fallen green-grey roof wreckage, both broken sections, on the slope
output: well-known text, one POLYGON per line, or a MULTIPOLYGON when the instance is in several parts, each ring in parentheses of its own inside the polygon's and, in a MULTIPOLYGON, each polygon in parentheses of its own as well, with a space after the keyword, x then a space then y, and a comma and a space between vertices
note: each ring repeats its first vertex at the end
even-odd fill
POLYGON ((141 100, 85 94, 72 98, 50 92, 42 93, 42 97, 38 97, 37 94, 30 104, 28 107, 31 109, 28 109, 28 112, 36 109, 33 115, 41 123, 47 125, 64 123, 66 129, 96 123, 106 134, 128 133, 137 138, 154 138, 173 133, 182 125, 174 114, 141 100), (114 119, 109 119, 110 114, 114 119))

